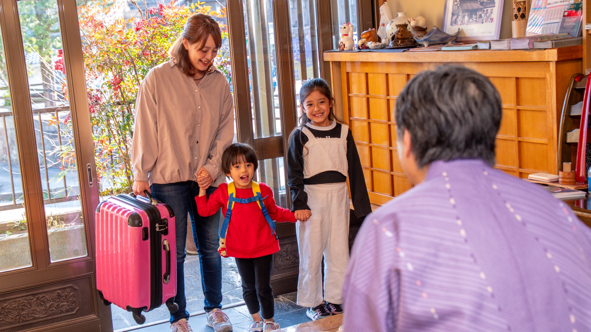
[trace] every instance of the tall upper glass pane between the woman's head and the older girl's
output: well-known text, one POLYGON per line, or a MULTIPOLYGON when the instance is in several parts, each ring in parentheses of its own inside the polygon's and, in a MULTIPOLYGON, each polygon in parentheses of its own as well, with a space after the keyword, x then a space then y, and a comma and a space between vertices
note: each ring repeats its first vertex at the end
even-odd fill
POLYGON ((271 0, 245 0, 243 7, 254 137, 280 135, 272 3, 271 0))

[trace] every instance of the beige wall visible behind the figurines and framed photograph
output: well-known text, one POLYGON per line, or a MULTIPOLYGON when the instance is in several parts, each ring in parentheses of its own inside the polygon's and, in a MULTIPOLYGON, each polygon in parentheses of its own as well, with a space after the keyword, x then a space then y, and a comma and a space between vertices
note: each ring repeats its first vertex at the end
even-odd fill
MULTIPOLYGON (((397 12, 407 12, 408 17, 422 16, 427 19, 427 28, 433 25, 441 28, 443 22, 443 8, 445 0, 387 0, 392 15, 397 12)), ((452 0, 449 0, 452 1, 452 0)), ((511 38, 511 21, 513 14, 513 0, 505 0, 501 21, 501 39, 511 38)))

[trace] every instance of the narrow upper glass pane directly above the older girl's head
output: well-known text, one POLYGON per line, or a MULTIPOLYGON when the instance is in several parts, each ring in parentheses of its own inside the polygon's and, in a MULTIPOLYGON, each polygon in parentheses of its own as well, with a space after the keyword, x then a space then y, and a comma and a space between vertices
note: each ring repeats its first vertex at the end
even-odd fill
POLYGON ((318 38, 314 0, 290 0, 291 44, 296 78, 296 109, 301 115, 300 87, 304 80, 319 77, 318 38))

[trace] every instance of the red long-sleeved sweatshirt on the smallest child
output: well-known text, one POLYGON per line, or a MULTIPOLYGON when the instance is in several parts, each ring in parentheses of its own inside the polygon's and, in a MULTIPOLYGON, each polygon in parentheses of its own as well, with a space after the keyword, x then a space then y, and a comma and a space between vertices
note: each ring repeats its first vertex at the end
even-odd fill
MULTIPOLYGON (((275 205, 273 191, 268 185, 261 185, 261 196, 269 211, 269 216, 276 222, 296 222, 296 216, 290 210, 275 205)), ((236 198, 252 197, 252 188, 236 188, 236 198)), ((207 200, 206 196, 195 197, 200 216, 211 216, 222 208, 222 217, 228 210, 228 184, 222 183, 207 200)), ((271 235, 271 227, 262 214, 258 203, 234 203, 228 232, 226 232, 226 255, 235 258, 257 258, 279 251, 279 241, 271 235)))

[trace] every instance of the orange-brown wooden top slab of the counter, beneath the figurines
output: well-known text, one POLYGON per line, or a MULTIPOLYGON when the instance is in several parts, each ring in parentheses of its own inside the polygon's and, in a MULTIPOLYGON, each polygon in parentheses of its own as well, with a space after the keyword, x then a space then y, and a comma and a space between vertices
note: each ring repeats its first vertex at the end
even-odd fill
POLYGON ((466 51, 404 51, 401 53, 379 52, 324 52, 324 61, 363 62, 523 62, 563 61, 581 58, 582 45, 545 50, 466 50, 466 51))

